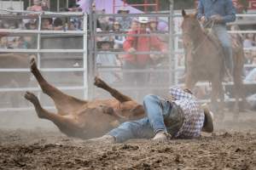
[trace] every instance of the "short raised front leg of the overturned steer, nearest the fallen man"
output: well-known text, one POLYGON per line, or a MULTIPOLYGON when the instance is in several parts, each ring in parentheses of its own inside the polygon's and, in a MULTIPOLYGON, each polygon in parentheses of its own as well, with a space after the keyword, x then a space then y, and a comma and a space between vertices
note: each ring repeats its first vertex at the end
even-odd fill
POLYGON ((106 82, 103 82, 102 79, 99 77, 95 77, 95 82, 94 84, 98 88, 102 88, 104 90, 107 90, 109 94, 111 94, 115 99, 118 99, 120 102, 125 102, 125 101, 132 101, 132 99, 125 94, 121 94, 118 90, 111 88, 108 86, 106 82))

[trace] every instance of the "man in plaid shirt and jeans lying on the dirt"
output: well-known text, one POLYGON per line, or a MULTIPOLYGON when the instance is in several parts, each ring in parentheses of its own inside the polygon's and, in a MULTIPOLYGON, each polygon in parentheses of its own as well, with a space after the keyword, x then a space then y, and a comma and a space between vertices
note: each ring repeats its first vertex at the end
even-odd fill
POLYGON ((143 119, 124 122, 106 135, 90 139, 92 142, 121 143, 128 139, 194 139, 201 132, 212 133, 213 114, 207 105, 199 105, 188 89, 170 88, 170 99, 147 95, 143 99, 143 119))

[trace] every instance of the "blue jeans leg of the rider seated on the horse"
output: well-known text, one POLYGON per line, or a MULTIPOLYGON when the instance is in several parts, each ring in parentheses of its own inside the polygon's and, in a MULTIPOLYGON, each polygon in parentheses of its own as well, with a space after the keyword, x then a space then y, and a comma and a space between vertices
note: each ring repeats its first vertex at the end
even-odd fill
POLYGON ((227 31, 226 26, 223 25, 216 25, 212 27, 212 30, 218 37, 219 41, 222 44, 222 47, 224 48, 224 64, 229 69, 230 74, 233 75, 233 54, 232 54, 232 44, 230 41, 230 35, 227 31))

